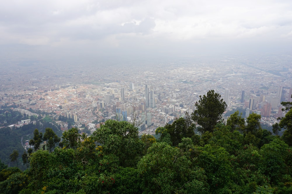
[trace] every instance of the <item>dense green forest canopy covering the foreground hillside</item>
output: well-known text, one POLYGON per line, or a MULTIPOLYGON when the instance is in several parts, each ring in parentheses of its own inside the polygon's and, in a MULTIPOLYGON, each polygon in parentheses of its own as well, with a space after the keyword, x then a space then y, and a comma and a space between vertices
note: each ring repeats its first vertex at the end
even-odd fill
MULTIPOLYGON (((286 128, 282 137, 262 129, 260 115, 250 114, 245 123, 239 112, 226 125, 212 115, 213 128, 201 125, 201 136, 192 118, 209 115, 199 112, 157 128, 159 139, 139 138, 124 121, 108 120, 91 136, 72 128, 59 147, 36 145, 27 153, 23 172, 0 163, 0 193, 292 193, 292 110, 286 107, 274 126, 275 132, 286 128)), ((38 131, 34 136, 32 144, 43 140, 38 131)))

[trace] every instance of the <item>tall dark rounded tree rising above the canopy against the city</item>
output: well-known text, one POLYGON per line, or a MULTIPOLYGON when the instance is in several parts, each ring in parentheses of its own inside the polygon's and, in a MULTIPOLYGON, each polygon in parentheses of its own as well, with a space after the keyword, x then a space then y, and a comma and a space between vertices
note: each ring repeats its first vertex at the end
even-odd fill
POLYGON ((215 125, 223 122, 222 114, 226 110, 227 104, 214 90, 209 90, 207 96, 200 96, 195 106, 197 110, 192 113, 192 120, 202 127, 198 129, 200 132, 213 132, 215 125))

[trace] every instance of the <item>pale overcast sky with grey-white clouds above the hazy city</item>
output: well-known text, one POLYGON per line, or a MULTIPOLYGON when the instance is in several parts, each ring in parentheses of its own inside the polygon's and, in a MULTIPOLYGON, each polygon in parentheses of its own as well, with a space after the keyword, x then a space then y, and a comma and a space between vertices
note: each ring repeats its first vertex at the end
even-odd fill
POLYGON ((290 53, 291 0, 0 1, 7 60, 290 53))

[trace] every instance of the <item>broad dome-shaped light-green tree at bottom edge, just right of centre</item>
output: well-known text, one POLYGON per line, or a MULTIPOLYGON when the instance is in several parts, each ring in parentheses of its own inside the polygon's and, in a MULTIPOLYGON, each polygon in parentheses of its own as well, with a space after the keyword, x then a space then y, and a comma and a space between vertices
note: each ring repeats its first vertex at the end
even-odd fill
POLYGON ((148 149, 137 165, 143 193, 209 193, 204 170, 192 165, 192 158, 185 153, 192 150, 181 146, 183 149, 161 142, 148 149))

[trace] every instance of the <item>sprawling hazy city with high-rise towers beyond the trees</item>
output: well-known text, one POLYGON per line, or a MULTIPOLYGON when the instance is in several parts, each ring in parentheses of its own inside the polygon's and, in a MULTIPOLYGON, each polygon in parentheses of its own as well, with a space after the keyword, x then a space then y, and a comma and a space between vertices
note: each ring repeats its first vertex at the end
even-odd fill
POLYGON ((291 61, 291 55, 232 55, 50 69, 41 62, 11 63, 2 67, 0 105, 48 113, 62 130, 68 125, 60 115, 91 133, 115 119, 134 122, 140 134, 155 134, 157 127, 192 113, 199 96, 215 90, 228 105, 225 113, 244 110, 247 118, 255 112, 261 124, 272 126, 284 114, 280 103, 291 102, 291 61))

